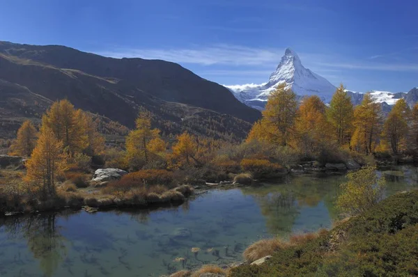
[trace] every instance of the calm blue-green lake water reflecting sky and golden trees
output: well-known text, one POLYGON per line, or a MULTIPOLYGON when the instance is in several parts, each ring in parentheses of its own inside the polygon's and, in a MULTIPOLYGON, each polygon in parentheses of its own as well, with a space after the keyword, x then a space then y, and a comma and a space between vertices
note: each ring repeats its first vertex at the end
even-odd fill
MULTIPOLYGON (((387 195, 417 185, 417 169, 387 195)), ((286 177, 263 187, 212 190, 172 209, 57 212, 0 219, 0 276, 161 276, 240 261, 263 237, 330 228, 339 175, 286 177), (191 248, 201 249, 197 255, 191 248), (213 248, 208 253, 208 248, 213 248)))

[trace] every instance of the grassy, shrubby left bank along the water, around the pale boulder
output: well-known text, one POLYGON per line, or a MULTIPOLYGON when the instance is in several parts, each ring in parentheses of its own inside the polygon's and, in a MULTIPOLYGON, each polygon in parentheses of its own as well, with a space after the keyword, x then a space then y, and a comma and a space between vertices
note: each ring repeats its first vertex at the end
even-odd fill
MULTIPOLYGON (((88 181, 91 174, 71 173, 66 175, 66 180, 57 184, 54 194, 45 198, 39 191, 33 191, 22 182, 24 171, 3 170, 0 174, 1 215, 63 208, 81 209, 85 206, 100 209, 167 207, 180 205, 194 190, 187 184, 179 185, 173 182, 144 184, 144 179, 132 180, 130 175, 126 175, 122 180, 109 182, 104 187, 95 187, 94 183, 88 181)), ((161 174, 158 178, 151 177, 156 181, 162 178, 161 174)))

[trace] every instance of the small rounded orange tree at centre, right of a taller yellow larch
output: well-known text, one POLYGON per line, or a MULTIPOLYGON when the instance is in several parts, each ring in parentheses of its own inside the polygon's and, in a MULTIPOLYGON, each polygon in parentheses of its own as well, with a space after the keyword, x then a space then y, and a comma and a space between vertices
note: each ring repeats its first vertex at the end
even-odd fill
POLYGON ((177 137, 177 143, 171 148, 173 150, 173 159, 177 166, 190 166, 196 162, 196 153, 198 145, 194 137, 187 132, 177 137))

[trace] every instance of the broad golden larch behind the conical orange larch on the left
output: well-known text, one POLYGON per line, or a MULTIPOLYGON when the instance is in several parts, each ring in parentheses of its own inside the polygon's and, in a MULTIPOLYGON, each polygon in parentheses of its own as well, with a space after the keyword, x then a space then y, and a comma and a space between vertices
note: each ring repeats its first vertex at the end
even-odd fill
MULTIPOLYGON (((84 132, 84 116, 68 100, 54 102, 42 116, 42 128, 51 129, 69 153, 82 152, 88 147, 88 136, 84 132)), ((42 131, 41 128, 41 132, 42 131)))

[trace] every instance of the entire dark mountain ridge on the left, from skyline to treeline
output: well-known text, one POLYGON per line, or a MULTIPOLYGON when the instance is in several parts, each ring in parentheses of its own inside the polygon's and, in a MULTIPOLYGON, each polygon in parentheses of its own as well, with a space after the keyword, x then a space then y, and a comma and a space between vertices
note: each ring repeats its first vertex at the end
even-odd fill
MULTIPOLYGON (((166 134, 188 131, 236 141, 261 116, 224 86, 176 63, 107 58, 63 46, 0 42, 0 79, 27 88, 19 94, 22 103, 29 102, 30 93, 51 102, 67 98, 77 108, 127 127, 134 127, 139 109, 145 108, 166 134)), ((17 86, 3 86, 0 96, 10 100, 17 86)), ((0 101, 0 118, 12 120, 17 108, 6 102, 0 101)))

